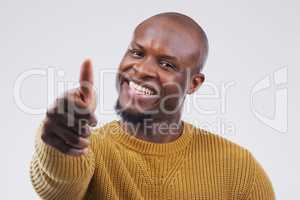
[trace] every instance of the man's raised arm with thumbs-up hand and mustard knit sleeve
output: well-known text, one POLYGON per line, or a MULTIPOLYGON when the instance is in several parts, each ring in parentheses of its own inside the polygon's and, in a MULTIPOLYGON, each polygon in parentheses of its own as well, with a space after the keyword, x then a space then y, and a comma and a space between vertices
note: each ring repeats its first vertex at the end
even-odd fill
POLYGON ((94 173, 89 126, 96 123, 96 100, 89 60, 79 82, 56 99, 37 133, 30 175, 42 199, 83 199, 94 173))

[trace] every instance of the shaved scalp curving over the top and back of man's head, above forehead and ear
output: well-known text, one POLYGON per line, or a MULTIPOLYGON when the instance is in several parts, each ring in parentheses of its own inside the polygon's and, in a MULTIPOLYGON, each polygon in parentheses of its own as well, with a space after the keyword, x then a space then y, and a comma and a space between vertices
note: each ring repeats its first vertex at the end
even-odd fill
POLYGON ((202 70, 208 55, 208 39, 197 22, 181 13, 160 13, 141 22, 136 27, 135 32, 149 25, 161 25, 161 27, 169 29, 168 31, 170 32, 177 32, 182 35, 187 34, 188 38, 185 38, 185 40, 191 39, 193 40, 192 45, 196 45, 193 57, 197 60, 197 64, 194 69, 196 72, 202 70))

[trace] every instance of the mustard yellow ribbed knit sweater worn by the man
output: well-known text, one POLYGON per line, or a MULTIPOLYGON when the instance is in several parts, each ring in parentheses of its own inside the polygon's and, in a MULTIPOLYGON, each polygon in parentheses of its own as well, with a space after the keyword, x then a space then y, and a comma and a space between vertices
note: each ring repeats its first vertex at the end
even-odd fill
MULTIPOLYGON (((128 135, 119 121, 95 130, 89 153, 72 157, 37 134, 30 174, 42 199, 274 200, 272 185, 246 149, 184 122, 157 144, 128 135)), ((41 128, 41 127, 40 127, 41 128)))

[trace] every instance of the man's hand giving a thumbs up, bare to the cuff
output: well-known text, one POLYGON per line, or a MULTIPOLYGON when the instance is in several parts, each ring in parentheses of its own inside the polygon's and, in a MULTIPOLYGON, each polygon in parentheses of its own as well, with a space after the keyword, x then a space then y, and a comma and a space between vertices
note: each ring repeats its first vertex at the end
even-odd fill
POLYGON ((97 124, 90 60, 85 60, 81 66, 79 83, 79 88, 67 91, 48 108, 41 135, 46 144, 72 156, 87 153, 90 126, 97 124))

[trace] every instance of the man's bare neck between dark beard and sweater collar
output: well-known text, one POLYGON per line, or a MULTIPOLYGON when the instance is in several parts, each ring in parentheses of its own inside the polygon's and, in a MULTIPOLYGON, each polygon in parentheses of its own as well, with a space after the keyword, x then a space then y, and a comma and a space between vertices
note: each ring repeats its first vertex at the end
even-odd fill
POLYGON ((133 124, 121 120, 121 126, 136 138, 155 142, 167 143, 176 140, 182 131, 180 113, 173 116, 145 119, 143 123, 133 124))

